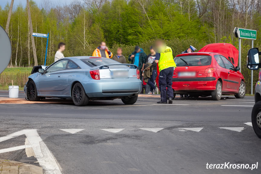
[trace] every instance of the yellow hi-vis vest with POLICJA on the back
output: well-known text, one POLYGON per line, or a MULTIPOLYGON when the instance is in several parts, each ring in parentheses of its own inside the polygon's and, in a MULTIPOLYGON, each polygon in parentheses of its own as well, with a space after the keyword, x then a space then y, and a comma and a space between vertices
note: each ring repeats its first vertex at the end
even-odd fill
POLYGON ((160 58, 158 61, 159 71, 164 70, 168 67, 177 67, 172 55, 172 50, 170 47, 167 47, 163 53, 160 54, 160 58))

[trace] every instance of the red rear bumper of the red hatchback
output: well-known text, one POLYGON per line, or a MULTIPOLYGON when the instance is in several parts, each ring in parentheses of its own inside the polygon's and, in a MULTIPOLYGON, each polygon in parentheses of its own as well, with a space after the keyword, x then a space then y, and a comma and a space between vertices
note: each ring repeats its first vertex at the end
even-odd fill
POLYGON ((215 77, 201 77, 192 79, 172 79, 172 89, 174 91, 206 91, 216 90, 217 79, 215 77))

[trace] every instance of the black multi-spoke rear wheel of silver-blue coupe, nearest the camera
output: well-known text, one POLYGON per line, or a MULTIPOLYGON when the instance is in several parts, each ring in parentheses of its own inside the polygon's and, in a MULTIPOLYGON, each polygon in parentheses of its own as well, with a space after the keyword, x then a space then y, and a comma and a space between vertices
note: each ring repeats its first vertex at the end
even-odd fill
POLYGON ((85 106, 89 101, 89 98, 85 94, 84 88, 80 83, 76 83, 73 86, 72 98, 73 98, 73 103, 76 106, 85 106))

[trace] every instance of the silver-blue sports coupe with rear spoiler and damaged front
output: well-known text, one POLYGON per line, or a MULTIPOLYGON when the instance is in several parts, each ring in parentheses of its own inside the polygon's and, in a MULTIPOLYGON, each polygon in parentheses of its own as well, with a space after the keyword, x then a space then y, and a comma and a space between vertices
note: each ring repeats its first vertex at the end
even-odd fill
POLYGON ((102 57, 66 57, 48 67, 35 66, 24 86, 27 100, 45 97, 73 99, 76 106, 90 100, 114 100, 134 104, 141 92, 139 70, 102 57))

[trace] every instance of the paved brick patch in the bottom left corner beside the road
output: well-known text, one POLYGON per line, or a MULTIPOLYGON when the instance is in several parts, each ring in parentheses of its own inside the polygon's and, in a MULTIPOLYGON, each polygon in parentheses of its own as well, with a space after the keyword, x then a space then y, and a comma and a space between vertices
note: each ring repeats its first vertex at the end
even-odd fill
POLYGON ((0 174, 43 174, 43 169, 31 164, 0 159, 0 174))

